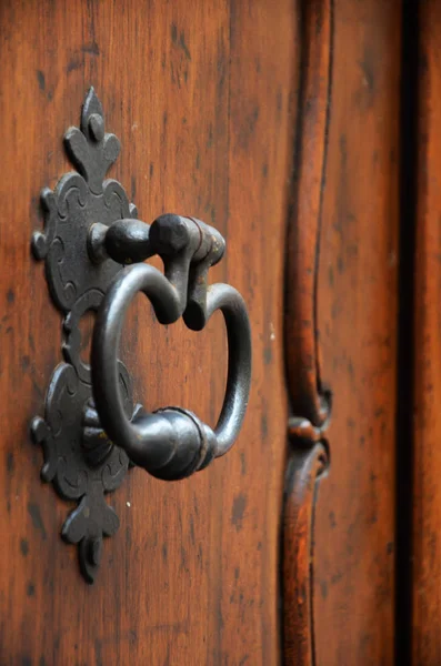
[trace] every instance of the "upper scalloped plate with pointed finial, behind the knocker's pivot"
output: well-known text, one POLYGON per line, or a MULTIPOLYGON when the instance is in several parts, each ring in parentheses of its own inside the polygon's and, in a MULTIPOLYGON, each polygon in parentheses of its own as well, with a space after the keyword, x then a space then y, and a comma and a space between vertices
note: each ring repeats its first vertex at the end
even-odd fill
POLYGON ((94 289, 104 294, 121 269, 112 260, 100 265, 90 261, 90 226, 97 221, 109 226, 122 218, 136 218, 137 209, 118 181, 104 180, 118 158, 120 143, 114 134, 104 133, 102 108, 93 88, 86 98, 81 130, 70 128, 64 145, 80 173, 64 174, 53 191, 42 190, 44 230, 33 233, 32 250, 36 259, 46 261, 57 307, 68 313, 87 291, 94 289))

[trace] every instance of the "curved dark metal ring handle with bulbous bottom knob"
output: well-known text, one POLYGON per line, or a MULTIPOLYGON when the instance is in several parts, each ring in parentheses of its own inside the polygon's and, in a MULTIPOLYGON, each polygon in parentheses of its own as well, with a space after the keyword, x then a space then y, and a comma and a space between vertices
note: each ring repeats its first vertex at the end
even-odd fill
POLYGON ((101 424, 109 437, 126 450, 137 465, 164 480, 189 476, 213 457, 225 454, 234 443, 247 410, 251 381, 251 330, 240 293, 228 284, 207 290, 200 316, 184 320, 201 329, 216 310, 221 310, 228 334, 228 380, 222 411, 212 431, 180 407, 126 415, 119 390, 118 349, 129 304, 143 292, 160 323, 176 322, 182 314, 177 287, 157 269, 136 264, 122 270, 109 287, 94 325, 91 369, 93 396, 101 424), (193 322, 193 324, 192 324, 193 322))

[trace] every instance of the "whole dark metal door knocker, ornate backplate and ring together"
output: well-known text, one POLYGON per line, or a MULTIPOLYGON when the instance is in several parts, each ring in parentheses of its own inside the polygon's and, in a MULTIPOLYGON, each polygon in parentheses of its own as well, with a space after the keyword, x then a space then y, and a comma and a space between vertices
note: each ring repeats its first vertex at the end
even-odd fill
POLYGON ((173 481, 204 468, 234 443, 250 390, 251 332, 239 292, 228 284, 208 285, 208 272, 225 250, 221 234, 176 214, 161 215, 151 225, 141 222, 122 185, 104 180, 120 144, 104 131, 93 89, 84 101, 81 129, 70 128, 64 143, 78 172, 63 175, 54 191, 42 191, 44 231, 32 236, 34 256, 44 260, 51 296, 64 315, 64 363, 52 374, 44 418, 36 416, 31 431, 43 447, 42 480, 52 482, 63 498, 79 502, 62 536, 79 545, 81 572, 92 583, 102 537, 119 526, 103 495, 122 483, 130 465, 173 481), (156 254, 163 274, 141 263, 156 254), (221 310, 228 381, 214 430, 181 407, 149 414, 133 404, 118 345, 124 313, 139 291, 163 324, 182 316, 189 329, 200 331, 221 310), (79 327, 89 310, 97 312, 90 365, 80 356, 79 327))

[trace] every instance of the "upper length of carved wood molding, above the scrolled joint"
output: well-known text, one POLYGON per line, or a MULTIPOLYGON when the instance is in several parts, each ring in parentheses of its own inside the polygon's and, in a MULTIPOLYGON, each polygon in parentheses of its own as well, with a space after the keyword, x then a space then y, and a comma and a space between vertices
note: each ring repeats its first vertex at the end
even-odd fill
POLYGON ((322 194, 332 91, 332 0, 304 0, 295 129, 294 180, 288 221, 285 350, 291 412, 321 426, 329 392, 320 370, 317 282, 322 194))

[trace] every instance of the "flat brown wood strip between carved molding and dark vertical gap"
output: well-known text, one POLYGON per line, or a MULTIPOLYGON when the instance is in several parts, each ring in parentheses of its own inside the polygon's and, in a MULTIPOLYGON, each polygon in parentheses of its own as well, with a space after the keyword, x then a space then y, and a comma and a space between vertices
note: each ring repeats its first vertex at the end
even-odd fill
POLYGON ((315 506, 317 664, 393 664, 400 17, 334 0, 318 275, 333 393, 315 506))

